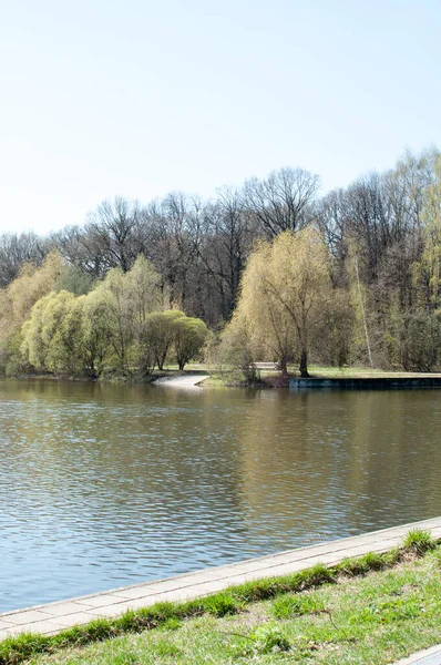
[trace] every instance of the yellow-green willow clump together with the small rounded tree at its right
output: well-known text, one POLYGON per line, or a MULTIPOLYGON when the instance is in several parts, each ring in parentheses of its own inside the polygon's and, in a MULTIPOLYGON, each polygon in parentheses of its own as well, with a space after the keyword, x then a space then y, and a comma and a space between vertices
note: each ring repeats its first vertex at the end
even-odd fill
POLYGON ((69 376, 107 369, 146 376, 167 357, 182 369, 208 329, 183 311, 158 311, 162 303, 160 277, 144 257, 129 273, 110 270, 88 295, 52 290, 22 326, 22 359, 39 371, 69 376))

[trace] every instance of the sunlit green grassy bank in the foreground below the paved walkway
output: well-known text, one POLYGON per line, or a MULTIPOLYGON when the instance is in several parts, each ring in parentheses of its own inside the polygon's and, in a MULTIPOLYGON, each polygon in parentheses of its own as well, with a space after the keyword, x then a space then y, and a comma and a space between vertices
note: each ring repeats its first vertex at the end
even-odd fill
POLYGON ((441 548, 416 532, 383 555, 158 604, 51 637, 10 638, 0 644, 0 663, 380 665, 437 643, 440 631, 441 548))

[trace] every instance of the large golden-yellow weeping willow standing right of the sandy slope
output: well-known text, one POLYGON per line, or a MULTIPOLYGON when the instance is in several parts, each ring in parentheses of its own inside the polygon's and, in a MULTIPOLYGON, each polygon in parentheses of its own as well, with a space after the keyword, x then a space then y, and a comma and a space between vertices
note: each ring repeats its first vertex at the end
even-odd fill
POLYGON ((237 315, 245 319, 256 347, 278 359, 283 374, 296 355, 308 377, 308 354, 330 296, 328 249, 308 227, 261 242, 252 254, 242 282, 237 315))

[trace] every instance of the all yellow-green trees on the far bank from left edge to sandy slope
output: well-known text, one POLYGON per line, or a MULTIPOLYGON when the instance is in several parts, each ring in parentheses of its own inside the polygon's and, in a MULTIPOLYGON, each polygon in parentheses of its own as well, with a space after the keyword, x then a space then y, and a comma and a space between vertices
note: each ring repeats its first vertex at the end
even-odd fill
POLYGON ((208 338, 201 319, 164 310, 161 277, 142 255, 127 273, 111 268, 91 285, 52 252, 40 267, 27 264, 1 291, 0 305, 7 375, 145 378, 166 360, 184 369, 208 338), (88 293, 75 295, 65 288, 70 283, 88 293))

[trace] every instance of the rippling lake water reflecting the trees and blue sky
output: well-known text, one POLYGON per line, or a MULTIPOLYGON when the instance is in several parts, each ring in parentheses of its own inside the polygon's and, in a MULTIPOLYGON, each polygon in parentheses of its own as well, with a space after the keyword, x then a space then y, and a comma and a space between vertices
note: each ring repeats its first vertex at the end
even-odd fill
POLYGON ((441 514, 441 391, 0 380, 0 612, 441 514))

